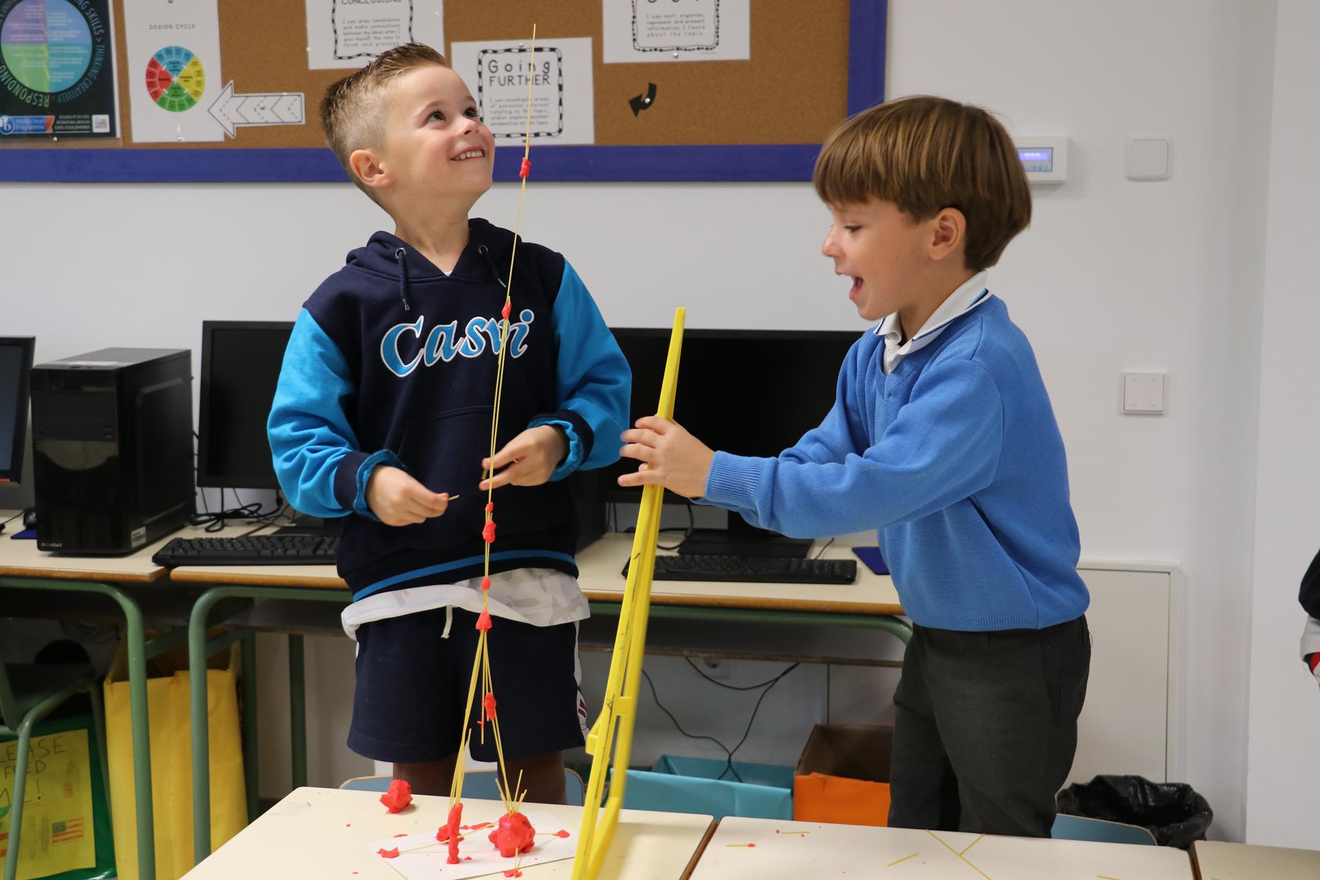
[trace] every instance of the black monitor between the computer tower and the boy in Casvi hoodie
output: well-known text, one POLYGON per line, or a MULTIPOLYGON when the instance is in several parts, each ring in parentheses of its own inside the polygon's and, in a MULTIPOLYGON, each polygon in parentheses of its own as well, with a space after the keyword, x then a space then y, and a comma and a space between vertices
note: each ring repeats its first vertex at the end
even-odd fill
POLYGON ((265 421, 292 331, 284 321, 202 322, 198 486, 279 488, 265 421))

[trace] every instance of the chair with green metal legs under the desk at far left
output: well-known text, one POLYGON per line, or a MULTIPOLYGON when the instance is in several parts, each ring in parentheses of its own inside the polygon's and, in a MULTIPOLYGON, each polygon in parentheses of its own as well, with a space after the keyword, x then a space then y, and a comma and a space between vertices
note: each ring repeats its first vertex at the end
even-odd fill
POLYGON ((28 782, 28 749, 32 728, 70 697, 87 691, 91 698, 92 727, 100 753, 102 782, 110 794, 110 765, 106 763, 106 718, 102 710, 100 683, 86 664, 0 664, 0 736, 17 736, 15 755, 13 807, 9 811, 8 854, 4 880, 18 875, 18 836, 22 833, 22 798, 28 782))

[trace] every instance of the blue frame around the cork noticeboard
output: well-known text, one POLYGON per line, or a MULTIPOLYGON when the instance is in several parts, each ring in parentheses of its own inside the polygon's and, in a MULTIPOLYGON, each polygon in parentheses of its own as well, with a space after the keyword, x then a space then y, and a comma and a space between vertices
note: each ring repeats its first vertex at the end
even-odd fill
MULTIPOLYGON (((884 99, 887 0, 850 0, 847 113, 884 99)), ((818 144, 537 146, 539 181, 809 181, 818 144)), ((516 181, 523 154, 495 152, 496 181, 516 181)), ((318 183, 345 181, 329 149, 0 150, 0 182, 318 183)))

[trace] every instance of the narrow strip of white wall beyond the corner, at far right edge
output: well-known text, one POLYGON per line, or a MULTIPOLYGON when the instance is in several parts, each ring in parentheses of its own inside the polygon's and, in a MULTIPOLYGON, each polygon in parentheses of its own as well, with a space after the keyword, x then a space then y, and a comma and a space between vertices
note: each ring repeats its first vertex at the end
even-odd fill
POLYGON ((1279 3, 1270 149, 1270 216, 1261 355, 1261 431, 1255 492, 1255 584, 1251 602, 1251 698, 1247 825, 1253 842, 1315 848, 1320 780, 1320 693, 1298 657, 1304 619, 1298 582, 1320 548, 1320 406, 1316 377, 1320 298, 1312 293, 1320 139, 1315 90, 1320 58, 1308 34, 1320 7, 1279 3))

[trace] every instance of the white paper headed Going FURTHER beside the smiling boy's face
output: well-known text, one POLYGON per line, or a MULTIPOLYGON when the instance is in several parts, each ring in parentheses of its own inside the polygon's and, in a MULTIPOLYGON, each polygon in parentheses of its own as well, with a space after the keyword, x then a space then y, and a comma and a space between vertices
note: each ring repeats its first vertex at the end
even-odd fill
POLYGON ((591 38, 455 42, 450 63, 477 99, 495 142, 521 141, 527 88, 532 87, 532 137, 550 144, 595 142, 591 38))

